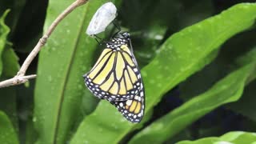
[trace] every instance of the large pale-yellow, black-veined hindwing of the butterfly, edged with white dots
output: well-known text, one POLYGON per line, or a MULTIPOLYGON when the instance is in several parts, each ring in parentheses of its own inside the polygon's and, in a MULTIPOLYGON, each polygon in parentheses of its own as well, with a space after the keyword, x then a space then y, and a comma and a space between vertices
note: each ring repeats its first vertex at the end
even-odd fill
POLYGON ((127 45, 106 48, 92 70, 84 75, 86 86, 98 98, 126 101, 141 89, 138 64, 127 45))

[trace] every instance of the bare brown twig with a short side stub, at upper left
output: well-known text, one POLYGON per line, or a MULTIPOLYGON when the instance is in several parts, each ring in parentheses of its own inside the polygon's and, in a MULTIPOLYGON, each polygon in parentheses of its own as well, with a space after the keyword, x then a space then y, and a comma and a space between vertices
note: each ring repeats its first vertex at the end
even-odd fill
POLYGON ((42 46, 44 46, 47 42, 47 39, 50 37, 52 32, 55 30, 56 26, 58 26, 58 23, 62 21, 63 18, 66 18, 67 14, 70 14, 75 8, 78 6, 81 6, 85 4, 88 0, 76 0, 73 2, 70 6, 66 8, 62 12, 62 14, 59 14, 58 17, 54 20, 54 22, 50 25, 49 29, 46 30, 46 34, 42 36, 42 38, 39 39, 36 46, 34 46, 34 49, 30 52, 26 60, 23 62, 22 67, 20 70, 18 70, 18 73, 14 78, 7 79, 5 81, 0 82, 0 88, 7 87, 7 86, 14 86, 19 85, 24 82, 27 82, 31 78, 36 78, 36 74, 24 76, 26 74, 26 70, 30 66, 30 63, 34 60, 34 58, 37 56, 38 52, 42 49, 42 46))

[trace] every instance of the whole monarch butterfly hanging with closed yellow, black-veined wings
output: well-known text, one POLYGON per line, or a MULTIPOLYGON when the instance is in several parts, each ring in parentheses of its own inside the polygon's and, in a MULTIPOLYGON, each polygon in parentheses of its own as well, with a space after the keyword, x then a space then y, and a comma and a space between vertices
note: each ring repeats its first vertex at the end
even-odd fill
POLYGON ((106 42, 106 49, 83 77, 96 97, 116 106, 130 122, 141 121, 145 92, 129 33, 119 32, 110 42, 106 42))

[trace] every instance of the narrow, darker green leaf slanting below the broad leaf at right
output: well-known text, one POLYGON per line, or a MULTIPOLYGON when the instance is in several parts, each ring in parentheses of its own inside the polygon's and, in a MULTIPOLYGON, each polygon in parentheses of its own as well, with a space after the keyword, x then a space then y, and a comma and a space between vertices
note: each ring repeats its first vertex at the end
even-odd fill
POLYGON ((242 91, 251 75, 255 74, 256 57, 246 66, 217 82, 210 90, 200 94, 184 105, 173 110, 146 129, 136 134, 130 143, 162 143, 173 137, 203 115, 228 102, 235 102, 242 96, 242 91))

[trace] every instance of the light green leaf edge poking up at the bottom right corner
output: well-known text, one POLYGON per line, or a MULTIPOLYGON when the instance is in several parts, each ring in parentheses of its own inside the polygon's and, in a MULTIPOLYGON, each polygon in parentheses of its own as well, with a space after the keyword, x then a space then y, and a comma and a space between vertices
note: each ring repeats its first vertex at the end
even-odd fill
POLYGON ((244 131, 234 131, 222 135, 221 137, 210 137, 201 138, 196 141, 182 141, 177 144, 217 144, 217 143, 248 143, 253 144, 256 142, 256 133, 244 132, 244 131))

